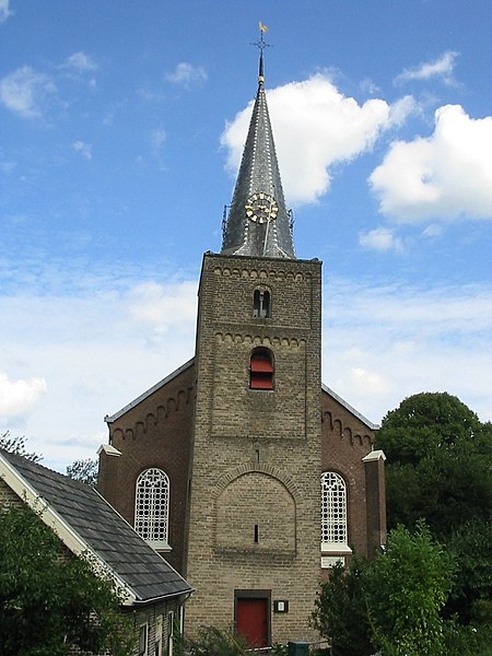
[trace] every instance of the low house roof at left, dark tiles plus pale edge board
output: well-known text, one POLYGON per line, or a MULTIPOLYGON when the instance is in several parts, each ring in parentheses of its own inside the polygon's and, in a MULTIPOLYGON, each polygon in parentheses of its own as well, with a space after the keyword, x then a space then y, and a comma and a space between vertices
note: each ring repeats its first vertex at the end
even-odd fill
POLYGON ((96 490, 0 449, 0 477, 77 555, 95 557, 127 593, 126 605, 187 595, 191 586, 96 490))

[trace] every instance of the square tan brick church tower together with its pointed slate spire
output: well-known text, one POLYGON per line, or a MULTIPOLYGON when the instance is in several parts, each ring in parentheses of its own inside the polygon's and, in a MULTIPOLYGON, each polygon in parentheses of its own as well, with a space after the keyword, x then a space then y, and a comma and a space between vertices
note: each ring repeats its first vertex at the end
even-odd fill
POLYGON ((186 572, 187 622, 225 618, 258 645, 313 637, 320 269, 294 255, 261 54, 222 251, 201 269, 186 572))

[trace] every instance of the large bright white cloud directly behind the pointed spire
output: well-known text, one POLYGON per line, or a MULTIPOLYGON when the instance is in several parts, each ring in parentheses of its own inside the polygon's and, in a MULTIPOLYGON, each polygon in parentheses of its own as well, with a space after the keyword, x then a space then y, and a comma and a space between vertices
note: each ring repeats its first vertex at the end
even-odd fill
MULTIPOLYGON (((382 99, 359 105, 323 73, 268 92, 276 147, 288 201, 315 202, 330 186, 330 167, 372 148, 380 132, 414 110, 407 97, 395 106, 382 99), (285 108, 289 107, 289 112, 285 108)), ((227 168, 235 174, 251 115, 251 103, 222 133, 227 168)))

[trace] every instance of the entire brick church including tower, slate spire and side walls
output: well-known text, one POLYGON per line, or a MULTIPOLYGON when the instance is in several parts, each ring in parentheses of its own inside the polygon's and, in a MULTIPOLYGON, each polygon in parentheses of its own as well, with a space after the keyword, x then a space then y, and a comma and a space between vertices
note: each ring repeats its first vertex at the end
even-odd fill
POLYGON ((195 593, 185 629, 315 640, 320 578, 385 538, 374 426, 321 385, 321 265, 294 254, 263 85, 195 358, 106 418, 98 489, 195 593))

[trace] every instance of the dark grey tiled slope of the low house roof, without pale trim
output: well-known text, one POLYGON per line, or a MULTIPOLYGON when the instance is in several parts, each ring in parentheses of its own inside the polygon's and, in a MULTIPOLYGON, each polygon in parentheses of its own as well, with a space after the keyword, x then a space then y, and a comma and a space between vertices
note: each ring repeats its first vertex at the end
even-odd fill
POLYGON ((96 490, 3 449, 0 456, 127 584, 136 602, 192 591, 96 490))

